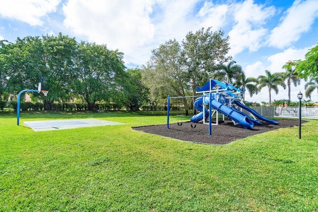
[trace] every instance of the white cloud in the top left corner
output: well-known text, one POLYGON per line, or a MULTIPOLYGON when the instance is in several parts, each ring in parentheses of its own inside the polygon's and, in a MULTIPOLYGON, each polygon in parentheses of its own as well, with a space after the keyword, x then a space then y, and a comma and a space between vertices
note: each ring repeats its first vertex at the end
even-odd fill
POLYGON ((26 22, 31 26, 42 26, 42 17, 55 12, 60 0, 4 0, 1 1, 0 15, 26 22))

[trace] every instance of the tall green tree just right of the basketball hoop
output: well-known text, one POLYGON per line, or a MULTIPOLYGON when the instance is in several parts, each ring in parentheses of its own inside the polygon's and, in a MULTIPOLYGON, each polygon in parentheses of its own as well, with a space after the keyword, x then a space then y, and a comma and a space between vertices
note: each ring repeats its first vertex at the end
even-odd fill
POLYGON ((73 98, 71 85, 76 79, 74 61, 77 53, 75 38, 62 35, 42 36, 43 62, 42 87, 49 90, 44 98, 44 108, 51 110, 55 101, 67 101, 73 98))

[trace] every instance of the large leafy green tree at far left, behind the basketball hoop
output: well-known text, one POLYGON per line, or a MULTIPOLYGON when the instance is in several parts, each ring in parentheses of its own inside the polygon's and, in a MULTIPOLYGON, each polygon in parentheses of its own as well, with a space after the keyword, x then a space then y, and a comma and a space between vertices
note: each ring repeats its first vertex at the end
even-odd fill
POLYGON ((45 69, 41 39, 28 36, 17 38, 15 43, 2 42, 0 51, 0 73, 6 93, 36 89, 45 69))

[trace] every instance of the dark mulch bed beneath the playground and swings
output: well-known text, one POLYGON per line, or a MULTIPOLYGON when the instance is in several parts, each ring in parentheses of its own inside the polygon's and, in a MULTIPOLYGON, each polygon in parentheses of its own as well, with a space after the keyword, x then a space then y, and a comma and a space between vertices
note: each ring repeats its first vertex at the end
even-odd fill
MULTIPOLYGON (((276 120, 278 125, 261 121, 261 125, 254 125, 253 129, 244 129, 239 124, 234 125, 231 120, 220 120, 219 125, 212 125, 212 135, 209 135, 209 125, 197 123, 195 128, 191 127, 191 122, 183 122, 181 126, 177 123, 132 127, 134 130, 175 138, 183 141, 191 141, 205 144, 228 144, 251 135, 275 130, 278 128, 298 126, 298 119, 276 120), (221 123, 220 123, 221 122, 221 123)), ((306 121, 302 121, 304 123, 306 121)), ((297 135, 295 135, 297 136, 297 135)))

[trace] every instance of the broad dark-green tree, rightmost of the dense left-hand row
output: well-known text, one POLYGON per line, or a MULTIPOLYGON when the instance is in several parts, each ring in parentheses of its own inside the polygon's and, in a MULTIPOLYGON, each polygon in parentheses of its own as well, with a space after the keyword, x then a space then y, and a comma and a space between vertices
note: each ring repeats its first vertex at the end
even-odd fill
MULTIPOLYGON (((123 88, 128 77, 124 71, 122 53, 108 50, 106 45, 81 42, 78 55, 74 59, 75 76, 72 87, 88 106, 96 110, 96 102, 124 102, 123 88)), ((118 105, 118 104, 117 104, 118 105)))

